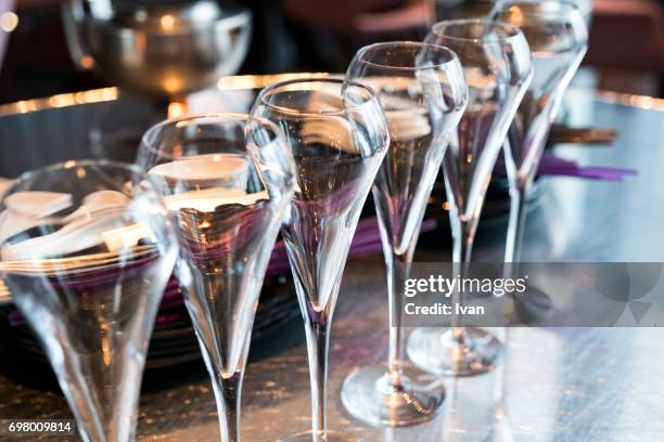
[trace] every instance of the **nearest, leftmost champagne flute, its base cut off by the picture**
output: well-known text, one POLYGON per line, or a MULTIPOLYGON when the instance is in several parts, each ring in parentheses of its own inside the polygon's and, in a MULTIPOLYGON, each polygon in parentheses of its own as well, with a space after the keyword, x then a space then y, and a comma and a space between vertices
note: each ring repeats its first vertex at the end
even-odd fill
POLYGON ((148 343, 177 257, 136 166, 67 161, 2 200, 0 274, 37 334, 85 441, 135 440, 148 343))

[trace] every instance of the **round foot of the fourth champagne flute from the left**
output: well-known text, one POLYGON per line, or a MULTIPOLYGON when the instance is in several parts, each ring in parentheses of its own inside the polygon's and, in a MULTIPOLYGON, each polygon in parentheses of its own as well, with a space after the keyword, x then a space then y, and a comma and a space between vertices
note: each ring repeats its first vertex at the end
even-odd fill
POLYGON ((442 410, 445 386, 410 364, 401 386, 393 386, 385 365, 354 370, 342 387, 342 403, 353 417, 374 426, 403 427, 431 419, 442 410))

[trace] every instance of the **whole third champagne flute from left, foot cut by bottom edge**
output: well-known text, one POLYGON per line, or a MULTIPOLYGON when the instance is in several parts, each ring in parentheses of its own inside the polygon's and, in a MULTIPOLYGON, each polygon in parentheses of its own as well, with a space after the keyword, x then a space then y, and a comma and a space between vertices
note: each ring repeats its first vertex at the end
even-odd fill
POLYGON ((350 240, 390 144, 385 117, 371 89, 336 79, 268 87, 252 115, 283 129, 296 165, 282 235, 305 321, 314 419, 311 433, 290 440, 347 441, 327 429, 328 344, 350 240))

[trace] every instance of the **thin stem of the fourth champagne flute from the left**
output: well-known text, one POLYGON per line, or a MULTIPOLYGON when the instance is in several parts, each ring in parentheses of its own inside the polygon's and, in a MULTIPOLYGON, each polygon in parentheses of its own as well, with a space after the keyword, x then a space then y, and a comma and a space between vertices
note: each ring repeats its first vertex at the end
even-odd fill
POLYGON ((385 265, 387 268, 387 299, 390 302, 390 354, 387 359, 387 375, 391 387, 398 390, 403 387, 403 363, 405 334, 401 327, 401 314, 404 298, 399 290, 410 274, 412 252, 414 243, 404 253, 386 255, 385 265))

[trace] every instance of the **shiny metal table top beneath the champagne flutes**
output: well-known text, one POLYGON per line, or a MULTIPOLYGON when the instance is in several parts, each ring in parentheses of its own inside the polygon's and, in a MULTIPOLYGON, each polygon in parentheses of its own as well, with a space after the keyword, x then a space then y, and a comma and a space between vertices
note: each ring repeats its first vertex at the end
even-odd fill
MULTIPOLYGON (((563 145, 557 153, 580 164, 634 168, 638 176, 620 183, 546 180, 545 192, 529 213, 524 261, 664 261, 662 102, 633 99, 633 106, 612 101, 589 91, 570 91, 571 123, 615 127, 620 136, 613 147, 563 145)), ((476 259, 499 260, 502 239, 502 225, 484 229, 476 259)), ((422 249, 417 259, 449 260, 449 250, 422 249)), ((386 358, 384 268, 381 257, 349 261, 330 349, 329 427, 376 442, 664 438, 664 329, 497 332, 507 342, 500 367, 473 378, 445 379, 448 396, 436 418, 410 428, 366 427, 344 412, 339 392, 354 367, 386 358)), ((218 440, 209 381, 204 377, 177 381, 143 393, 138 440, 218 440)), ((243 392, 244 441, 276 441, 309 429, 304 346, 252 363, 243 392)), ((0 418, 69 416, 60 394, 14 385, 0 376, 0 418)))

